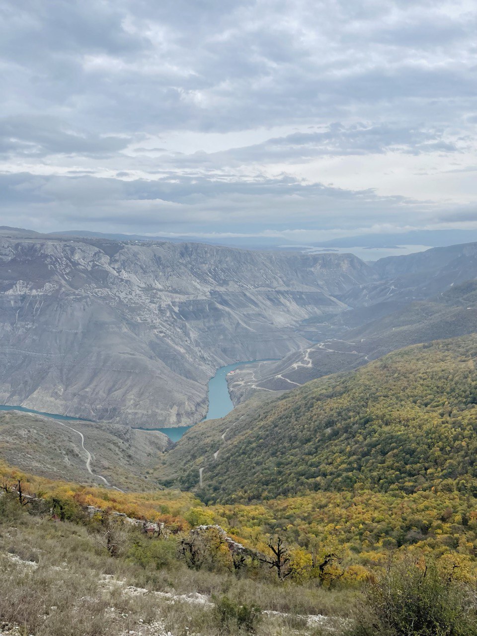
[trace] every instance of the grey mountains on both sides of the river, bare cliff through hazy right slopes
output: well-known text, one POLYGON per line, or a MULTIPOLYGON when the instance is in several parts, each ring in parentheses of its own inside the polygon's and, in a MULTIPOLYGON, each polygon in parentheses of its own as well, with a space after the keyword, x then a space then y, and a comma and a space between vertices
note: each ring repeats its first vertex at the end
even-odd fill
POLYGON ((477 331, 477 244, 352 254, 0 230, 0 401, 99 422, 197 422, 235 361, 235 404, 477 331))

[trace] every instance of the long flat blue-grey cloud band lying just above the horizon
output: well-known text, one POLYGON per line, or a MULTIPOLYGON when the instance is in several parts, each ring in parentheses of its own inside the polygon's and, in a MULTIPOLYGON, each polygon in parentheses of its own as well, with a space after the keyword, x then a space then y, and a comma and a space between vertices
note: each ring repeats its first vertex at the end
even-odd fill
MULTIPOLYGON (((126 232, 198 232, 204 224, 239 232, 263 228, 352 228, 394 219, 406 225, 416 214, 426 216, 429 203, 404 197, 382 197, 372 190, 343 190, 323 184, 275 179, 211 180, 162 177, 157 181, 121 181, 92 176, 0 175, 4 219, 31 227, 64 227, 114 223, 126 232), (27 212, 25 212, 27 211, 27 212)), ((11 222, 9 221, 10 225, 11 222)), ((6 224, 8 225, 8 223, 6 224)))

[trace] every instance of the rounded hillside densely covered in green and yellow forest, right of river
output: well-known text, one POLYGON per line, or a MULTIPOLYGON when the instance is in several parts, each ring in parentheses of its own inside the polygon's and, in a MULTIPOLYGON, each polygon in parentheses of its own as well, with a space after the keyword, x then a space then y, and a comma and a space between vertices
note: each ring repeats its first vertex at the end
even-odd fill
POLYGON ((202 431, 191 429, 168 461, 181 465, 178 481, 188 488, 198 487, 204 467, 199 492, 206 501, 356 488, 474 495, 476 357, 476 335, 393 352, 261 408, 253 404, 255 417, 244 405, 241 417, 216 422, 209 448, 203 443, 192 460, 202 431))

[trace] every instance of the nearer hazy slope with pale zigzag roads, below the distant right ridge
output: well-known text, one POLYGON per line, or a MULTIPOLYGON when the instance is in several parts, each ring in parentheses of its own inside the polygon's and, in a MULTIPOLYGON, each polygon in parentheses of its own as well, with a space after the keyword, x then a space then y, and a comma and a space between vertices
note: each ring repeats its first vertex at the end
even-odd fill
POLYGON ((301 333, 317 337, 321 332, 328 337, 308 343, 277 363, 239 371, 230 383, 235 401, 256 390, 286 390, 329 373, 352 370, 408 345, 477 332, 477 280, 448 287, 429 300, 387 304, 388 311, 385 303, 379 303, 343 312, 329 322, 308 321, 301 333), (373 312, 376 315, 370 320, 373 312))

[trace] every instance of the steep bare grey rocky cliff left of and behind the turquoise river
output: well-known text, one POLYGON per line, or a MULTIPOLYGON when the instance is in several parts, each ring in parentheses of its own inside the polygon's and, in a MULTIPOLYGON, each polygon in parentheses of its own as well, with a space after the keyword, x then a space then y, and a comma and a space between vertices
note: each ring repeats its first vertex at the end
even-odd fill
POLYGON ((218 366, 299 348, 303 319, 374 276, 352 255, 0 237, 0 401, 191 424, 218 366))

